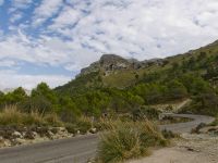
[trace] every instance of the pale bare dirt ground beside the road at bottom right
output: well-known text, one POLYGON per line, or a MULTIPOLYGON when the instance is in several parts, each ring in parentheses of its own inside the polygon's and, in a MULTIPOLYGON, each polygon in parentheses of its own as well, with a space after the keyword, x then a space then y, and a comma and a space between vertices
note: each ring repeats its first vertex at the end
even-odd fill
POLYGON ((218 137, 183 134, 173 146, 129 163, 218 163, 218 137))

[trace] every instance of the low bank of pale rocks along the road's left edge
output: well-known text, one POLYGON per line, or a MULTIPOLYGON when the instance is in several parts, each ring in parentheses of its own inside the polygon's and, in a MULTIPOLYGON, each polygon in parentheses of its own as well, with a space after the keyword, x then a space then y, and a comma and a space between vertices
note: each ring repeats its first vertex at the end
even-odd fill
MULTIPOLYGON (((95 133, 97 129, 90 128, 84 134, 95 133)), ((0 127, 0 148, 70 138, 80 134, 80 130, 72 133, 65 127, 0 127)))

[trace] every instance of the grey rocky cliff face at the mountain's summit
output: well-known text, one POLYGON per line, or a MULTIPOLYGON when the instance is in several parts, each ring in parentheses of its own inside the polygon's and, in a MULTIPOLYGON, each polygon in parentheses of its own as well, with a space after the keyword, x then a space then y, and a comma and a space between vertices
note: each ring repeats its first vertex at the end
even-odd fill
POLYGON ((83 68, 81 71, 81 75, 100 71, 107 76, 120 70, 138 70, 141 67, 146 67, 150 63, 160 64, 161 60, 156 59, 140 62, 135 59, 123 59, 122 57, 116 54, 104 54, 99 61, 94 62, 88 67, 83 68))

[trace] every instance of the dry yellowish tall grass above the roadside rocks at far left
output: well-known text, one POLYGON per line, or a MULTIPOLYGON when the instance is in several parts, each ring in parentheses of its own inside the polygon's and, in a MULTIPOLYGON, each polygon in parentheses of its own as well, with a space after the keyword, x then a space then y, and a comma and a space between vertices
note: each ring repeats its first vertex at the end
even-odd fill
POLYGON ((37 112, 32 112, 29 114, 23 113, 17 110, 16 105, 5 106, 0 112, 0 125, 10 126, 10 125, 21 125, 21 126, 61 126, 62 123, 59 121, 56 114, 41 116, 37 112))

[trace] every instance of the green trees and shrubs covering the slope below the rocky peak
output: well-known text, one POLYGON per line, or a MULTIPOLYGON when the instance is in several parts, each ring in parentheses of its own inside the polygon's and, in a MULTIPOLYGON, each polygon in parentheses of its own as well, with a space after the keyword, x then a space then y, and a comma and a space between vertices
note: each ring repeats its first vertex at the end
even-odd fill
POLYGON ((5 106, 16 105, 22 114, 57 115, 62 123, 69 124, 72 131, 78 125, 85 128, 81 130, 90 127, 85 122, 78 123, 83 116, 95 117, 95 121, 105 116, 156 120, 159 112, 150 105, 186 98, 191 98, 192 103, 181 112, 217 115, 217 54, 218 42, 215 42, 167 58, 161 64, 148 63, 145 67, 116 70, 109 75, 101 70, 80 75, 56 89, 41 83, 29 96, 20 87, 12 92, 0 92, 1 113, 5 112, 5 106))

